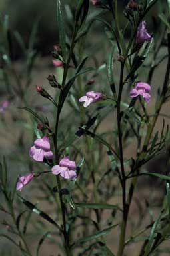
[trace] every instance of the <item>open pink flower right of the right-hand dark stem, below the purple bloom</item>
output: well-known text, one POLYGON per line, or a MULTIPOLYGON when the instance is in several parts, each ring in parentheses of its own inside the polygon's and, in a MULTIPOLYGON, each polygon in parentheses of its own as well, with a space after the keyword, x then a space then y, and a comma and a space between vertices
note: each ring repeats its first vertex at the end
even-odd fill
POLYGON ((151 91, 151 86, 148 83, 139 82, 136 84, 135 88, 131 90, 130 96, 131 98, 135 98, 141 95, 147 103, 149 103, 151 99, 151 95, 149 94, 151 91))

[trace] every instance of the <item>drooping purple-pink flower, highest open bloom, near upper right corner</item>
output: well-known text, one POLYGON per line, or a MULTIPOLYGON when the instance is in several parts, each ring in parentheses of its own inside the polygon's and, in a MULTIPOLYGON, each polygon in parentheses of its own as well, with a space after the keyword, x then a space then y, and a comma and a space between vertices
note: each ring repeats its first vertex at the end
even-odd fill
POLYGON ((151 41, 151 39, 151 35, 149 35, 146 30, 146 21, 141 21, 137 28, 136 43, 138 45, 143 45, 145 41, 151 41))

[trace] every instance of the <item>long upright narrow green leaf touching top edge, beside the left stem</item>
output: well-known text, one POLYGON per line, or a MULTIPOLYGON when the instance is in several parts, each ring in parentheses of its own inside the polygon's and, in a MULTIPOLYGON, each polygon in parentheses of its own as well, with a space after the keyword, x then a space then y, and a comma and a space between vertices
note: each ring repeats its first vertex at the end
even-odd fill
POLYGON ((61 1, 57 0, 57 24, 59 27, 59 41, 61 44, 64 60, 66 59, 65 21, 61 1))

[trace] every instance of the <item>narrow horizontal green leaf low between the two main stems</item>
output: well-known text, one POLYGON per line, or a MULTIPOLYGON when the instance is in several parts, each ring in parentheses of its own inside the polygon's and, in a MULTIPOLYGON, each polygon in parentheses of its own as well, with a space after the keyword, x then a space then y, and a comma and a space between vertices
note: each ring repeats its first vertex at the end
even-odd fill
POLYGON ((112 209, 112 210, 120 210, 118 205, 110 205, 108 203, 75 203, 75 207, 87 208, 87 209, 112 209))

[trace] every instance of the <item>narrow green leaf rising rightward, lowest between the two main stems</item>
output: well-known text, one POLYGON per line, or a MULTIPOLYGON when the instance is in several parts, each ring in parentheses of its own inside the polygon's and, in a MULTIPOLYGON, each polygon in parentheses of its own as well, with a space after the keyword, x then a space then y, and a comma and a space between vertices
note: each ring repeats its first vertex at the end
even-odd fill
POLYGON ((113 229, 114 227, 117 227, 118 224, 116 225, 111 225, 110 227, 107 227, 106 229, 103 229, 101 231, 98 231, 96 233, 94 233, 93 235, 89 235, 87 237, 83 237, 81 239, 78 239, 76 242, 75 242, 75 245, 79 245, 81 243, 86 243, 88 241, 91 241, 93 239, 98 239, 99 237, 102 237, 103 235, 107 235, 109 234, 109 232, 111 231, 111 229, 113 229))

